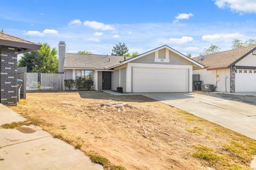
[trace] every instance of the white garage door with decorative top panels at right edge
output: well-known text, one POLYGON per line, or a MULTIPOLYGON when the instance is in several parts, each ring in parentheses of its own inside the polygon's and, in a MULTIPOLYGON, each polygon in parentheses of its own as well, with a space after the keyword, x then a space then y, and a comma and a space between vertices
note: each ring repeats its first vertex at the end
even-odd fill
POLYGON ((256 92, 256 70, 236 70, 236 92, 256 92))

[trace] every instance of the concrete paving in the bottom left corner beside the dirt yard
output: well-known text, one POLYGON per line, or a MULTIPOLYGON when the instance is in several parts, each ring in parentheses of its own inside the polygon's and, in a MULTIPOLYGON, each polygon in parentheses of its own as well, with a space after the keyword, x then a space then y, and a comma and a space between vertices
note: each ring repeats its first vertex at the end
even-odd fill
MULTIPOLYGON (((0 104, 0 124, 25 118, 0 104)), ((88 169, 103 170, 79 149, 34 125, 0 128, 0 169, 88 169)))

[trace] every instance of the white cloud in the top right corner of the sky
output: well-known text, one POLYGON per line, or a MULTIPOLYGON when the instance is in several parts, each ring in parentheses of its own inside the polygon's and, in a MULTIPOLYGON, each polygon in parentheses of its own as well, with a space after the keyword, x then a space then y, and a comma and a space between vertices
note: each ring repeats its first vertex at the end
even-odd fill
POLYGON ((255 0, 215 0, 215 4, 238 13, 256 13, 255 0))

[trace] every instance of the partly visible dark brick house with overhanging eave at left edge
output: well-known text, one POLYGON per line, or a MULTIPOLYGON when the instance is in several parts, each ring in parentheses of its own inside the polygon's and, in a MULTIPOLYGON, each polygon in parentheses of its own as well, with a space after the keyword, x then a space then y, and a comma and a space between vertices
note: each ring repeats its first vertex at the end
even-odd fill
POLYGON ((17 55, 40 49, 41 45, 28 40, 0 33, 0 102, 17 104, 17 55))

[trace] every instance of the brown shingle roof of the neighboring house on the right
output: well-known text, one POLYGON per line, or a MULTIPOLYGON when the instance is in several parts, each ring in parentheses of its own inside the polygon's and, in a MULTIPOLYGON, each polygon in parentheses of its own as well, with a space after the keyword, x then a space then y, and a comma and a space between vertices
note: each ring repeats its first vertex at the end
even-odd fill
POLYGON ((225 68, 230 64, 236 62, 239 58, 254 49, 256 45, 242 47, 237 49, 230 49, 224 52, 213 53, 205 55, 204 61, 200 61, 198 57, 192 58, 194 61, 204 64, 204 67, 211 69, 225 68))

